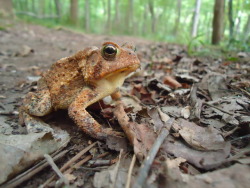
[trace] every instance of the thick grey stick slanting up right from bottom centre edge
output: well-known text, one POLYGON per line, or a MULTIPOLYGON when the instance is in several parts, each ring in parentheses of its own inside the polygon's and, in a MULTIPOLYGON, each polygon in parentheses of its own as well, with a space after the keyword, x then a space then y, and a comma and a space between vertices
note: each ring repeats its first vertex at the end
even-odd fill
POLYGON ((167 128, 163 128, 159 134, 159 136, 157 137, 154 145, 152 146, 147 158, 144 160, 143 164, 141 165, 141 168, 138 172, 138 177, 134 183, 134 185, 132 186, 132 188, 141 188, 144 185, 144 182, 148 176, 148 172, 150 169, 150 166, 152 165, 154 158, 159 150, 159 148, 161 147, 161 144, 163 143, 163 141, 165 140, 165 138, 167 137, 167 135, 169 134, 169 131, 167 130, 167 128))

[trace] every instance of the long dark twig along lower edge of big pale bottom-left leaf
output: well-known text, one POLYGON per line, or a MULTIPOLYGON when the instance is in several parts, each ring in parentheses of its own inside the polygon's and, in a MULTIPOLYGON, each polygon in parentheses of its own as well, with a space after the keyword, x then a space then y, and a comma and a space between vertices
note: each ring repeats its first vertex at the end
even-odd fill
MULTIPOLYGON (((53 160, 56 161, 56 160, 60 159, 67 152, 68 152, 68 150, 62 151, 61 153, 59 153, 56 156, 54 156, 53 160)), ((6 182, 5 184, 2 184, 0 187, 1 188, 16 187, 16 186, 20 185, 21 183, 23 183, 24 181, 30 179, 32 176, 34 176, 35 174, 37 174, 38 172, 40 172, 41 170, 43 170, 47 166, 49 166, 49 163, 47 163, 46 160, 43 160, 40 163, 38 163, 35 166, 33 166, 32 168, 30 168, 29 170, 27 170, 24 173, 18 175, 14 179, 6 182)))

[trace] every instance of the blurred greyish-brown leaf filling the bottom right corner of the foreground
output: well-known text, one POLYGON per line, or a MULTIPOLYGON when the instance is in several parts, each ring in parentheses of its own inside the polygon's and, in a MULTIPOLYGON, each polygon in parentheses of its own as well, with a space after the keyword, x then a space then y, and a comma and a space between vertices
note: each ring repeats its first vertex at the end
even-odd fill
POLYGON ((178 165, 171 167, 168 163, 167 161, 165 187, 246 188, 250 184, 250 167, 246 165, 236 164, 229 168, 192 176, 183 174, 178 169, 178 165))

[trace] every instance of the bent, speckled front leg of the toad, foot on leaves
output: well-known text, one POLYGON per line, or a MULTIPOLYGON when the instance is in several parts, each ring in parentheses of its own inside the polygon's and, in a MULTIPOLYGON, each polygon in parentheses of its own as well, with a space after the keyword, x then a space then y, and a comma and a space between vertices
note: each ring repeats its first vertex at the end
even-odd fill
POLYGON ((70 105, 69 116, 85 133, 99 140, 106 140, 108 136, 122 136, 123 133, 112 128, 103 128, 85 109, 103 97, 95 90, 84 88, 70 105))

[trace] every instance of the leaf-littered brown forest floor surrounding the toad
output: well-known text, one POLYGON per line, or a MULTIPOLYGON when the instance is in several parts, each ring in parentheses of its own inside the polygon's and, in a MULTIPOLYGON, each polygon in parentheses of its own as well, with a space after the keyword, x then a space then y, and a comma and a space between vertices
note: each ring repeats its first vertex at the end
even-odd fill
POLYGON ((82 162, 74 168, 76 161, 70 163, 67 169, 71 171, 61 178, 64 183, 69 181, 73 187, 124 187, 127 176, 132 177, 132 183, 139 181, 141 162, 150 148, 156 147, 154 143, 159 143, 163 129, 167 138, 160 144, 146 176, 147 186, 250 184, 249 53, 235 52, 230 58, 215 58, 212 53, 190 57, 184 46, 137 37, 82 34, 8 21, 0 24, 0 152, 4 153, 0 156, 0 169, 1 173, 6 172, 1 174, 0 187, 54 187, 55 181, 46 182, 55 174, 48 166, 38 173, 32 170, 33 176, 26 174, 12 182, 10 179, 34 167, 44 153, 58 148, 61 150, 51 156, 64 152, 58 160, 54 158, 59 168, 77 154, 82 162), (55 126, 64 130, 57 133, 64 136, 60 141, 42 132, 39 137, 29 135, 18 124, 18 107, 26 93, 37 89, 42 72, 62 57, 85 47, 100 47, 106 41, 133 42, 142 66, 121 88, 124 107, 102 104, 89 111, 102 124, 120 124, 123 129, 128 126, 130 144, 119 138, 96 143, 74 125, 66 111, 45 118, 53 129, 55 126), (127 122, 122 121, 124 117, 127 122), (91 149, 79 154, 90 145, 91 149), (131 176, 133 153, 137 161, 131 176), (7 183, 1 185, 3 182, 7 183))

